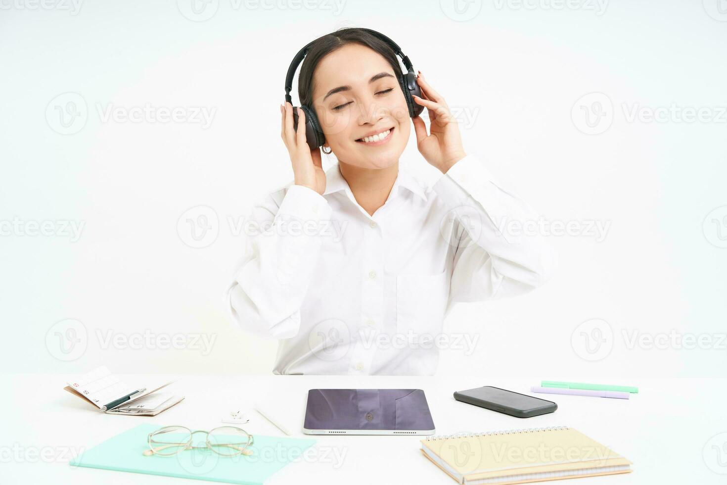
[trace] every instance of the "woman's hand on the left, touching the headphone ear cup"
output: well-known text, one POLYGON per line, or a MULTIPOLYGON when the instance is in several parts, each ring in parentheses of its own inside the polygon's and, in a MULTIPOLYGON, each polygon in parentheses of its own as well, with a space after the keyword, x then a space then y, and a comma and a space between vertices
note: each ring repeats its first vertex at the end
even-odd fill
POLYGON ((298 108, 298 127, 293 128, 293 105, 285 102, 280 107, 281 138, 290 153, 295 185, 302 185, 323 195, 326 190, 326 173, 321 164, 321 148, 311 150, 305 141, 305 113, 298 108))

